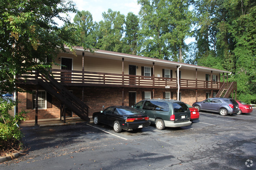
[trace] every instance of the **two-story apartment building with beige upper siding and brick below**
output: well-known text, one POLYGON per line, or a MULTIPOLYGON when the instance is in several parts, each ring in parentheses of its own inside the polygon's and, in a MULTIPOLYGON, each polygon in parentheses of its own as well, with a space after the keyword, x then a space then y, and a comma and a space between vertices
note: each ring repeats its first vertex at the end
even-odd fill
POLYGON ((91 117, 108 106, 132 106, 142 99, 193 104, 228 87, 236 91, 236 83, 220 82, 229 71, 156 58, 76 47, 76 55, 59 53, 55 62, 52 76, 31 71, 18 77, 19 88, 33 91, 17 94, 18 110, 29 111, 30 120, 91 117))

